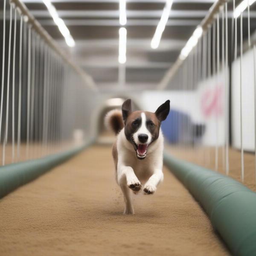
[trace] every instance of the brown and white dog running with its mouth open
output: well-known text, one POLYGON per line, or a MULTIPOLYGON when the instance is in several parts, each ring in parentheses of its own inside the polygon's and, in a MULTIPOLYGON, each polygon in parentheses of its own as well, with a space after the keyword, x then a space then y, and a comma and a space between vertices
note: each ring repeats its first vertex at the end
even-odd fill
POLYGON ((112 110, 105 117, 105 124, 116 134, 112 154, 116 167, 116 181, 125 199, 124 214, 134 214, 131 190, 153 194, 163 180, 163 134, 161 122, 170 111, 167 100, 155 113, 131 111, 131 99, 122 104, 122 112, 112 110), (143 161, 142 161, 143 160, 143 161))

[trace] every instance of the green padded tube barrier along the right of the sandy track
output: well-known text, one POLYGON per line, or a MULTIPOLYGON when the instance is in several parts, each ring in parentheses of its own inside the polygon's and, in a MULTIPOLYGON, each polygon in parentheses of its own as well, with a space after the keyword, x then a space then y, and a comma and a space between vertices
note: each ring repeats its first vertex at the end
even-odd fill
POLYGON ((230 177, 166 152, 164 163, 201 204, 230 251, 256 255, 256 193, 230 177))

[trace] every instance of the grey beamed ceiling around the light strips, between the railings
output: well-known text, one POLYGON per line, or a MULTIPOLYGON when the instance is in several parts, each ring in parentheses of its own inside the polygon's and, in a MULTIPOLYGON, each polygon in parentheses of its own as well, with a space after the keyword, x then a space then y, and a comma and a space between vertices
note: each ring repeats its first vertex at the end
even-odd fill
MULTIPOLYGON (((118 0, 52 0, 76 46, 64 38, 41 0, 23 0, 35 18, 102 90, 123 90, 123 68, 118 63, 118 0)), ((153 89, 177 59, 195 27, 207 15, 214 0, 174 0, 160 46, 150 42, 165 0, 127 0, 127 62, 125 88, 153 89)))

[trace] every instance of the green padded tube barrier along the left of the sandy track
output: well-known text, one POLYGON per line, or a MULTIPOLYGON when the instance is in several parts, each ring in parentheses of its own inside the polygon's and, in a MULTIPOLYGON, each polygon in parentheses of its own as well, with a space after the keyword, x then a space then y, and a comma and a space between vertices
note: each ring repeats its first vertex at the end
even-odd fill
POLYGON ((34 180, 58 164, 70 159, 70 157, 87 148, 91 143, 92 141, 72 150, 40 159, 0 167, 0 198, 17 189, 19 186, 34 180))

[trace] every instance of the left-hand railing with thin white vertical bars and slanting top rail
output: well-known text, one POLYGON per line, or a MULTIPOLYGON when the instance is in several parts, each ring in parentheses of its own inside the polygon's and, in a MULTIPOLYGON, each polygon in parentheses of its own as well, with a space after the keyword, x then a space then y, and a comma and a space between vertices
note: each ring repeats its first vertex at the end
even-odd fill
POLYGON ((0 143, 3 165, 73 147, 89 132, 97 88, 19 0, 1 1, 0 143))

